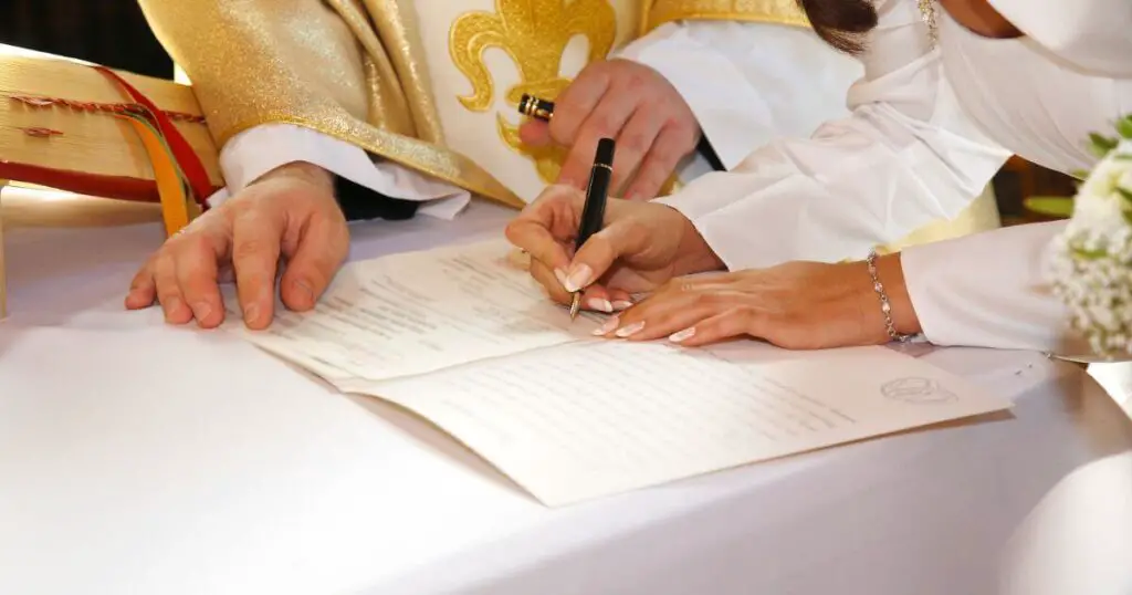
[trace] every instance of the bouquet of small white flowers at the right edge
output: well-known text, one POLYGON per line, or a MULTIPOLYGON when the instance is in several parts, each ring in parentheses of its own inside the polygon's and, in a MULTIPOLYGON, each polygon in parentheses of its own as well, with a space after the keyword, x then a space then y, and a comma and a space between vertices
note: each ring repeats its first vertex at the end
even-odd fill
POLYGON ((1054 288, 1072 328, 1107 357, 1132 354, 1132 116, 1116 131, 1090 136, 1100 161, 1082 176, 1053 257, 1054 288))

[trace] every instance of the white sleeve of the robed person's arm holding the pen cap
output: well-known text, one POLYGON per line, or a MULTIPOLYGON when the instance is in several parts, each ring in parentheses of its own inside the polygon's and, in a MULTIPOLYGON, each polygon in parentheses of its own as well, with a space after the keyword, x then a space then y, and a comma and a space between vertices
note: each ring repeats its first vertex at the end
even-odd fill
POLYGON ((676 87, 727 169, 775 137, 849 116, 846 92, 865 71, 811 29, 732 20, 667 23, 618 58, 676 87))

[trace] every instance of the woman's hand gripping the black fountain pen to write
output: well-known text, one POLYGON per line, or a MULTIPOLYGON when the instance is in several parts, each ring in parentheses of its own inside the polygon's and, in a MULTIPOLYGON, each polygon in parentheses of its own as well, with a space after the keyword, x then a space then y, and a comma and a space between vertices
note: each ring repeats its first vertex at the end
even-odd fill
POLYGON ((574 254, 585 196, 550 186, 507 226, 507 239, 531 255, 531 275, 561 304, 584 288, 582 306, 625 309, 632 294, 722 263, 679 211, 660 203, 610 198, 604 227, 574 254))

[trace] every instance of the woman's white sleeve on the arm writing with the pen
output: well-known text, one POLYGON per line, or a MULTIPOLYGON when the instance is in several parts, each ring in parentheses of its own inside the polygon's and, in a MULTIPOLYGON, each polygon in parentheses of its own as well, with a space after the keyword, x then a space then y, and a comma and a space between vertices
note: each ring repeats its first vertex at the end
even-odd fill
POLYGON ((878 1, 851 114, 779 138, 659 202, 731 270, 863 257, 952 219, 1010 156, 963 113, 916 2, 878 1))

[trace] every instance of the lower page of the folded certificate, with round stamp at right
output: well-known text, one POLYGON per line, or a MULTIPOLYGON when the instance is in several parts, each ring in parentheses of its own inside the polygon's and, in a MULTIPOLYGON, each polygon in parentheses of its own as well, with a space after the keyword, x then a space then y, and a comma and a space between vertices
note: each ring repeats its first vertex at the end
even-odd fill
POLYGON ((1009 407, 882 348, 736 362, 598 341, 351 389, 431 420, 548 505, 1009 407))

